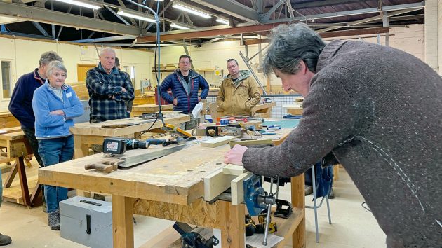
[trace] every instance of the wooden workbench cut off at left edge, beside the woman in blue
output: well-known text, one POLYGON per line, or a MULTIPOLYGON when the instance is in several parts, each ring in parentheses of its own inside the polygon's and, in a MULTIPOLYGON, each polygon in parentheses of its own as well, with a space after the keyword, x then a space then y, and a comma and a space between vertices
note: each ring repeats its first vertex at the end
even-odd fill
POLYGON ((20 127, 2 128, 0 134, 0 148, 6 149, 1 153, 0 163, 9 163, 14 160, 11 171, 4 181, 3 198, 4 200, 19 203, 25 206, 38 205, 41 198, 40 184, 37 179, 27 181, 25 171, 25 156, 32 154, 32 149, 27 142, 27 138, 20 127), (20 186, 11 186, 13 179, 18 174, 20 186), (32 188, 29 188, 31 185, 32 188), (29 191, 32 191, 29 194, 29 191))

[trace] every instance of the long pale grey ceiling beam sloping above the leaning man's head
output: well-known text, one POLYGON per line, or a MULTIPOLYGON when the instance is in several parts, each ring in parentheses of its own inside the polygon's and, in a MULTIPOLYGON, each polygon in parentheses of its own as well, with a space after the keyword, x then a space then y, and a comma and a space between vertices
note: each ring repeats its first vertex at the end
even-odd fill
MULTIPOLYGON (((417 11, 422 8, 425 8, 425 1, 421 1, 419 3, 414 4, 399 4, 399 5, 391 5, 391 6, 384 6, 382 8, 382 11, 399 11, 399 10, 410 10, 410 11, 417 11)), ((323 14, 317 14, 317 15, 305 15, 305 16, 299 16, 296 18, 283 18, 283 19, 277 19, 277 20, 268 20, 264 23, 274 23, 274 22, 295 22, 300 21, 304 22, 306 20, 319 20, 319 19, 325 19, 325 18, 337 18, 341 16, 349 16, 349 15, 362 15, 362 14, 369 14, 369 13, 379 13, 379 9, 376 8, 361 8, 359 10, 352 10, 352 11, 338 11, 338 12, 331 12, 331 13, 323 13, 323 14)), ((408 12, 410 12, 408 11, 408 12)))

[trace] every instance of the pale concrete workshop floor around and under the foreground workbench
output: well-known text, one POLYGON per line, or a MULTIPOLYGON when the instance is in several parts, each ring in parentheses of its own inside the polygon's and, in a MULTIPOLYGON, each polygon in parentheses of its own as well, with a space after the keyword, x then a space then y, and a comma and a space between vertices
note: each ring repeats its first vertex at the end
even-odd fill
MULTIPOLYGON (((36 164, 36 163, 34 163, 36 164)), ((36 174, 36 166, 27 168, 29 174, 36 174)), ((6 177, 4 173, 3 178, 6 177)), ((15 182, 16 183, 16 182, 15 182)), ((281 188, 280 197, 288 199, 286 186, 281 188)), ((327 208, 319 209, 319 243, 315 241, 314 211, 306 209, 307 247, 386 247, 385 235, 377 225, 373 214, 361 207, 364 201, 344 169, 340 169, 340 180, 335 182, 335 199, 330 200, 332 224, 328 224, 327 208)), ((312 195, 305 198, 312 205, 312 195)), ((176 240, 179 235, 165 221, 145 216, 135 216, 135 247, 168 247, 166 240, 176 240), (161 241, 162 240, 162 241, 161 241)), ((41 207, 28 209, 12 202, 4 202, 0 208, 0 233, 11 236, 13 242, 7 247, 84 247, 65 240, 60 232, 47 226, 47 215, 41 207)), ((286 246, 286 248, 291 246, 286 246)))

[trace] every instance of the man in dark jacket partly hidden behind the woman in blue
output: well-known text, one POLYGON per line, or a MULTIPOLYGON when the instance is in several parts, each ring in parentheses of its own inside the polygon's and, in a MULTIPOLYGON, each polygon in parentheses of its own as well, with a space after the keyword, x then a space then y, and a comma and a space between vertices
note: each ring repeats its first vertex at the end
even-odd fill
POLYGON ((39 155, 39 143, 35 138, 35 116, 32 110, 32 98, 36 88, 39 88, 46 81, 46 67, 54 60, 63 62, 62 58, 53 51, 43 53, 40 57, 39 68, 18 78, 8 107, 13 116, 20 121, 22 130, 40 167, 44 165, 39 155))

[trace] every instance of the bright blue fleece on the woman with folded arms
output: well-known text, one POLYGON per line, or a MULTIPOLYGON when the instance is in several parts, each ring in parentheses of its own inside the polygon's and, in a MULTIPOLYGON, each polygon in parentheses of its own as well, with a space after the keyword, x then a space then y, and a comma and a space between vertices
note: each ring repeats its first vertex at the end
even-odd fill
POLYGON ((63 102, 49 88, 49 83, 41 85, 34 91, 32 109, 35 115, 35 137, 50 139, 71 135, 69 128, 74 125, 74 117, 83 114, 83 104, 69 85, 62 86, 63 102), (53 115, 50 112, 61 109, 65 116, 53 115))

